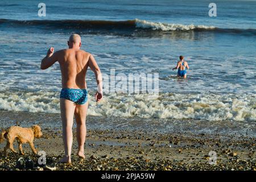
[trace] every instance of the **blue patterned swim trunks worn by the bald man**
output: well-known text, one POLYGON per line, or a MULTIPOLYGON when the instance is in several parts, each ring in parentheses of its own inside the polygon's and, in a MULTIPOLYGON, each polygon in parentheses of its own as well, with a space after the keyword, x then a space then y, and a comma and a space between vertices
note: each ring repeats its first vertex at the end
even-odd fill
POLYGON ((60 92, 60 98, 65 98, 75 104, 85 104, 88 100, 88 92, 86 89, 69 89, 63 88, 60 92))

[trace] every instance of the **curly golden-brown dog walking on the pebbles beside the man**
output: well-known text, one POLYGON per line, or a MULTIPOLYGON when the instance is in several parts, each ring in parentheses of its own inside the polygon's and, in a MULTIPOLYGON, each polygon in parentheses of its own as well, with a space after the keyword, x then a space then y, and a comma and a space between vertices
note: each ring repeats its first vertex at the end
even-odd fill
POLYGON ((34 138, 40 138, 40 137, 42 137, 42 131, 41 131, 40 126, 38 126, 38 125, 34 125, 30 128, 11 126, 6 131, 5 130, 2 131, 2 133, 0 134, 0 143, 2 143, 3 140, 6 138, 7 143, 6 143, 6 146, 4 149, 4 153, 6 154, 6 151, 9 148, 14 153, 17 153, 13 147, 13 142, 17 138, 20 154, 24 155, 24 152, 22 150, 23 143, 29 143, 34 154, 37 154, 35 147, 34 147, 34 138))

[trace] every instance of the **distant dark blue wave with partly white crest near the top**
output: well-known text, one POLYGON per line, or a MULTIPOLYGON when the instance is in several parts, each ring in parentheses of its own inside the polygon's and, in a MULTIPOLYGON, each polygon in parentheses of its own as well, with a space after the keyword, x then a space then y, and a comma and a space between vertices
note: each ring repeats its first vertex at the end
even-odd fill
POLYGON ((220 32, 243 35, 256 35, 255 29, 218 28, 194 24, 155 23, 146 20, 134 19, 123 21, 112 20, 12 20, 0 19, 0 26, 4 27, 39 27, 47 30, 80 31, 85 34, 122 34, 149 36, 167 34, 168 32, 220 32), (148 33, 148 34, 147 34, 148 33), (152 35, 153 34, 153 35, 152 35))

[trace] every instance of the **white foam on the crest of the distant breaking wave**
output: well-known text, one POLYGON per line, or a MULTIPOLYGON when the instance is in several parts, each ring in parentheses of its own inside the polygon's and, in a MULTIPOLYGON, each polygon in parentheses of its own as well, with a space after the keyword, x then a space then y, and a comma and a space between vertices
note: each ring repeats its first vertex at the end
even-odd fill
POLYGON ((152 30, 162 30, 162 31, 179 31, 179 30, 195 30, 200 29, 213 29, 216 27, 204 26, 204 25, 193 25, 193 24, 174 24, 174 23, 154 23, 147 22, 146 20, 135 19, 136 27, 138 28, 151 28, 152 30))

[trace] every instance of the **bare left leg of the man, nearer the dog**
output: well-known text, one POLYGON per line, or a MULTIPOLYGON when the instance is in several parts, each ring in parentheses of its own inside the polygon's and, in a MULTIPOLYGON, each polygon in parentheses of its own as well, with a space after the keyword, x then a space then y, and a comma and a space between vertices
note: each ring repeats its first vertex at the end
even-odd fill
POLYGON ((73 142, 73 117, 76 104, 72 101, 60 98, 60 113, 63 127, 63 142, 65 149, 65 156, 60 161, 62 163, 71 163, 71 150, 73 142))

